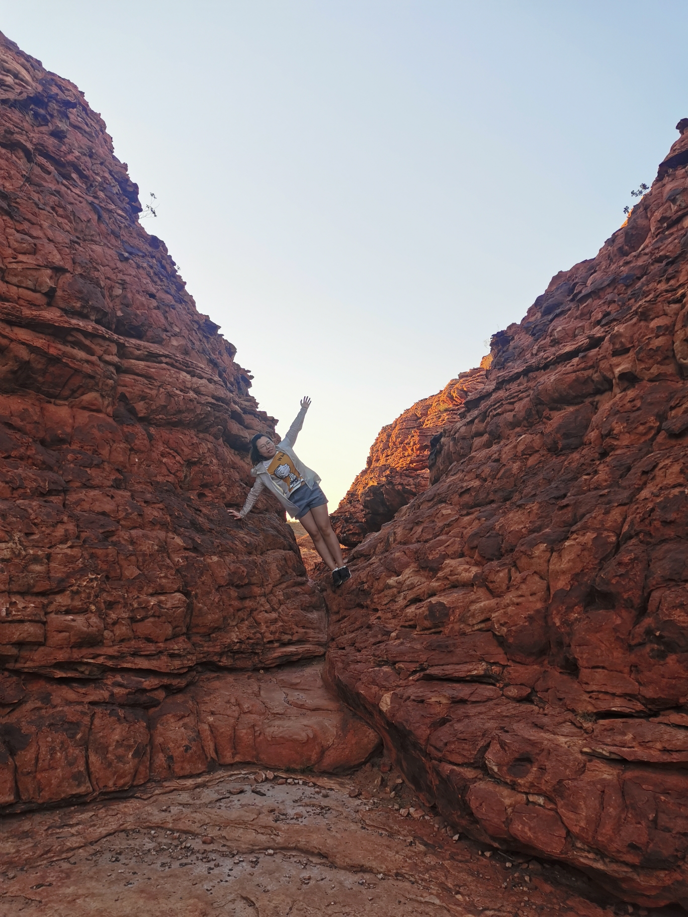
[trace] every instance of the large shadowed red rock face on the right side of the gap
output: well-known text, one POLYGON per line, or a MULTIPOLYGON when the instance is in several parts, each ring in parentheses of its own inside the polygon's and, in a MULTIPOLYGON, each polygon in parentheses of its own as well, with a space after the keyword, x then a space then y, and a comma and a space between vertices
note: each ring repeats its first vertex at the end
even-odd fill
POLYGON ((427 801, 644 904, 688 902, 686 161, 494 336, 330 600, 328 677, 427 801))

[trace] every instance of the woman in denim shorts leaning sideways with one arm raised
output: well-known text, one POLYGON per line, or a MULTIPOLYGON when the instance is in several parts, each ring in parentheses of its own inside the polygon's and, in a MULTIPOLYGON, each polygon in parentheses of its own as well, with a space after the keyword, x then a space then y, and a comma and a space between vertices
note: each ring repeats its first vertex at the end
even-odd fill
POLYGON ((338 537, 329 524, 327 497, 320 490, 320 479, 315 471, 306 468, 296 457, 293 448, 310 403, 307 395, 302 398, 301 410, 278 446, 275 446, 270 436, 263 433, 257 433, 251 439, 250 460, 253 468, 250 473, 255 475, 256 482, 241 512, 228 512, 236 519, 243 519, 250 513, 263 488, 267 487, 287 513, 295 516, 311 536, 317 553, 332 571, 332 582, 337 589, 345 580, 350 579, 350 569, 344 563, 338 537))

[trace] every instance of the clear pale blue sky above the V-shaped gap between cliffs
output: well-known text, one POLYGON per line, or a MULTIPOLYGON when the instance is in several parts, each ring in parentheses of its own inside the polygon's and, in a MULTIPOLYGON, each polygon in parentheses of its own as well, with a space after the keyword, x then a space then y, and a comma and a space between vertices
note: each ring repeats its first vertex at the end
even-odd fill
POLYGON ((594 257, 688 116, 684 0, 0 0, 330 510, 380 428, 594 257))

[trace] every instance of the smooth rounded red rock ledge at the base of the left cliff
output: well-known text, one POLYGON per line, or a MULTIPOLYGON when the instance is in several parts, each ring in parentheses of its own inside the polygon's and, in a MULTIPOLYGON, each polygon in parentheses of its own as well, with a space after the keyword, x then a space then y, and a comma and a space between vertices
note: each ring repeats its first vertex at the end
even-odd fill
POLYGON ((324 687, 321 662, 269 672, 101 679, 5 673, 0 805, 94 798, 218 764, 334 772, 361 764, 378 736, 324 687))

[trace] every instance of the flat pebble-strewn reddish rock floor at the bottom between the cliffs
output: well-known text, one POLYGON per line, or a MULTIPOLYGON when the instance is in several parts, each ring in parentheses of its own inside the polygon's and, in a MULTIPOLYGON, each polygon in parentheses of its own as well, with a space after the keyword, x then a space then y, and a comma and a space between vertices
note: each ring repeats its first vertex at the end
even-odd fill
POLYGON ((385 791, 370 766, 347 779, 287 784, 287 776, 227 768, 149 785, 128 799, 10 816, 0 841, 0 910, 6 917, 605 912, 583 877, 452 842, 405 785, 390 778, 385 791), (392 786, 400 802, 388 798, 392 786))

